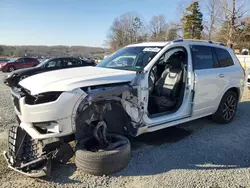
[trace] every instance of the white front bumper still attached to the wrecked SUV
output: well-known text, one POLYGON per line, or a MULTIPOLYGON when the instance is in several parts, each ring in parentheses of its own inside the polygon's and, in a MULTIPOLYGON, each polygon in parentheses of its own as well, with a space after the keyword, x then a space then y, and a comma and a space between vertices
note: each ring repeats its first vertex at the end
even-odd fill
POLYGON ((33 139, 59 138, 75 132, 75 114, 85 97, 83 91, 63 92, 55 101, 32 105, 26 103, 28 94, 20 94, 20 89, 12 89, 11 93, 20 127, 33 139))

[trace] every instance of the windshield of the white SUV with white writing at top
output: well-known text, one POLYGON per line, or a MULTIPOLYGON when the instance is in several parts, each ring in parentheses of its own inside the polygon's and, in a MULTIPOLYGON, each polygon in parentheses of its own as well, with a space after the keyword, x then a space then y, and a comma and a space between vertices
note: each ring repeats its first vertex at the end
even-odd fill
POLYGON ((105 58, 97 67, 136 71, 144 68, 162 47, 125 47, 105 58))

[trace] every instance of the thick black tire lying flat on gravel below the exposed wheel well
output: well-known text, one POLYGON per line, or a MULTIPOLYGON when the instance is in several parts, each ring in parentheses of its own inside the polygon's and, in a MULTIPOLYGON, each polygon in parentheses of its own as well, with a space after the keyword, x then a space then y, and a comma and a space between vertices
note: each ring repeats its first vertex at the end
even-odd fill
POLYGON ((94 150, 98 145, 92 137, 76 145, 75 164, 80 170, 92 175, 108 175, 124 169, 131 158, 129 140, 120 135, 110 135, 111 144, 105 150, 94 150), (113 146, 112 149, 110 149, 113 146))

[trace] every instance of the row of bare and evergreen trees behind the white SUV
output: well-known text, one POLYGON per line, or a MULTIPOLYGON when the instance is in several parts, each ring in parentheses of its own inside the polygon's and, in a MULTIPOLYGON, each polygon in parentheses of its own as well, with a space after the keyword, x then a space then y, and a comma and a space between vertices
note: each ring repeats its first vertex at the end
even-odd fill
POLYGON ((249 49, 250 16, 245 7, 246 2, 240 0, 194 0, 182 11, 178 23, 167 23, 164 14, 146 23, 136 12, 125 13, 114 19, 106 42, 112 51, 131 43, 179 38, 213 40, 231 48, 249 49))

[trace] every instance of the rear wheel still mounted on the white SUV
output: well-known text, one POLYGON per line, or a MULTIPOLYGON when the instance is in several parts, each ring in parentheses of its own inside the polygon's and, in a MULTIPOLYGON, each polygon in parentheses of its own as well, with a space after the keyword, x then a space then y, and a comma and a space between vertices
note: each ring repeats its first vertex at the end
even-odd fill
POLYGON ((238 96, 234 91, 227 91, 221 99, 217 111, 212 115, 212 119, 220 124, 230 123, 237 110, 238 96))

